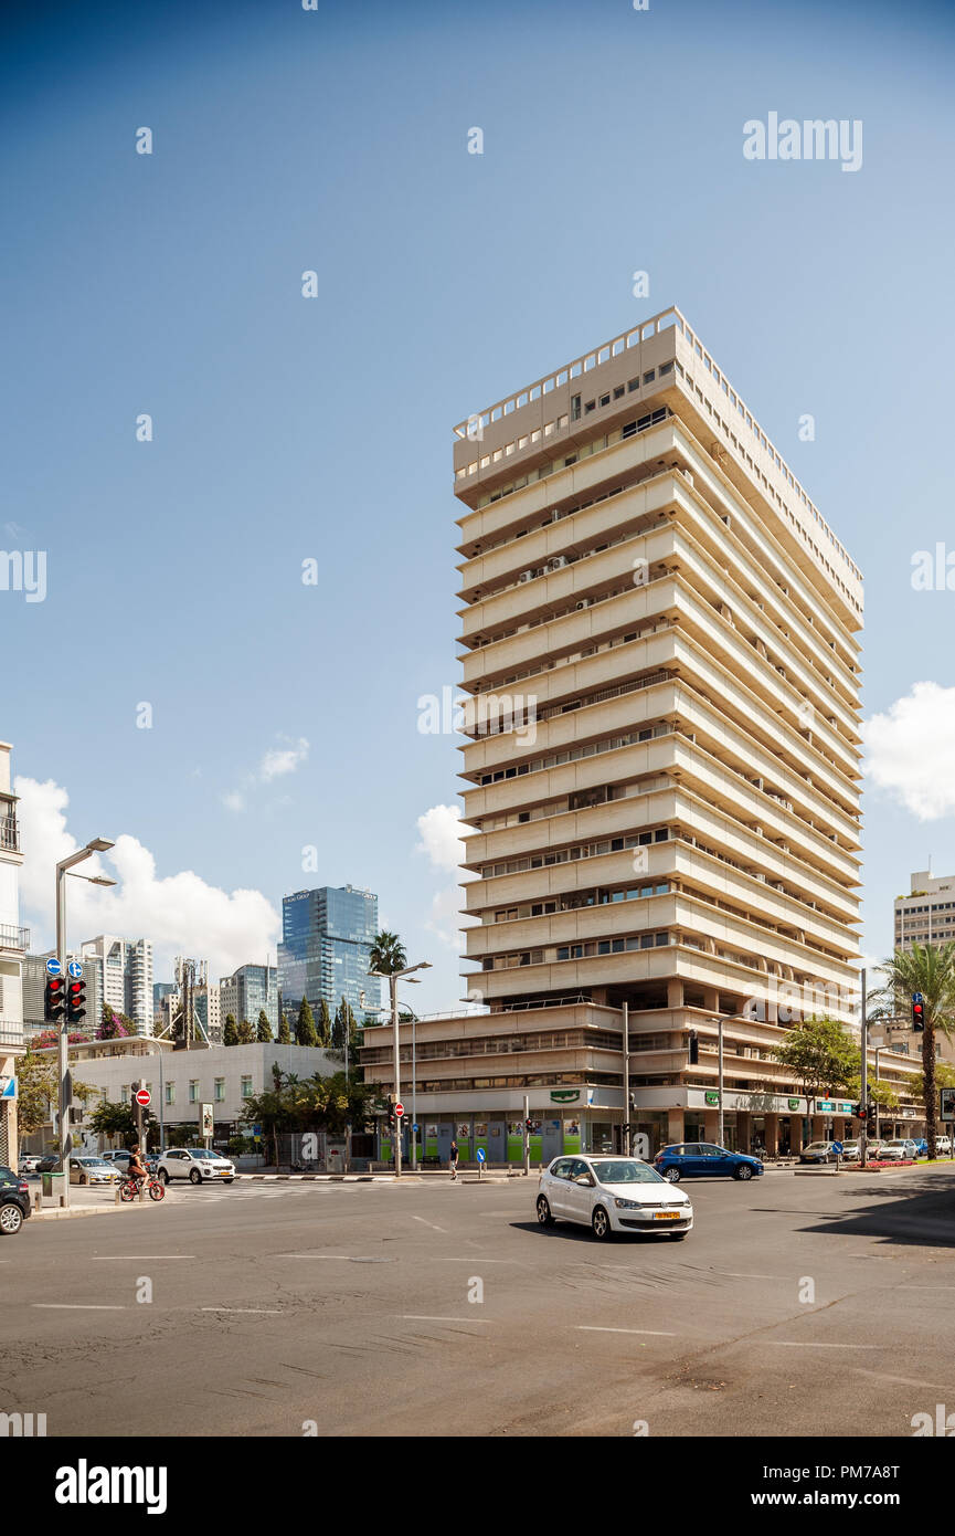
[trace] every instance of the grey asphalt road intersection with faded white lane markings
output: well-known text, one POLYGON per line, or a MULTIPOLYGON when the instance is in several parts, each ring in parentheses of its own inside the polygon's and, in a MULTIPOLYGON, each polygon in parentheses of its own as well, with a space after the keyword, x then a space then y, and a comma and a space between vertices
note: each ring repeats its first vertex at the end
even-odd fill
POLYGON ((0 1412, 48 1436, 748 1438, 955 1412, 955 1170, 688 1181, 683 1243, 539 1229, 536 1184, 240 1183, 31 1221, 0 1240, 0 1412))

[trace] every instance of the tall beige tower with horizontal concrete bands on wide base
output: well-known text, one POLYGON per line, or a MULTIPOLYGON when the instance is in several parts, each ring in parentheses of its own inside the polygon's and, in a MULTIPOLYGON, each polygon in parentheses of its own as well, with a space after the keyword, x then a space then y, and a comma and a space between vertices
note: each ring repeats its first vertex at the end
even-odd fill
POLYGON ((514 1155, 525 1095, 544 1158, 712 1140, 720 1018, 731 1146, 844 1129, 769 1052, 857 1028, 857 565, 676 309, 461 422, 454 493, 488 1012, 416 1026, 425 1150, 514 1155))

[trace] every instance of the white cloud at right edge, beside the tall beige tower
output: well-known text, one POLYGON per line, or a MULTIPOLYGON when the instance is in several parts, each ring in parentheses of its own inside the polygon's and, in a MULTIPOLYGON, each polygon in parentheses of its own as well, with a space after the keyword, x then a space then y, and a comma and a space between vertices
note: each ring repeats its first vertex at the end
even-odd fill
POLYGON ((955 813, 955 688, 917 682, 861 734, 872 783, 920 822, 955 813))

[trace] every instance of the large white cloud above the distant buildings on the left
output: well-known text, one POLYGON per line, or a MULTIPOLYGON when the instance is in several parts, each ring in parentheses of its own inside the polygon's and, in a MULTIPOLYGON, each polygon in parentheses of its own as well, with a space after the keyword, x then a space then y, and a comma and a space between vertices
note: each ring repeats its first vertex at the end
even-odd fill
MULTIPOLYGON (((52 943, 54 865, 77 846, 66 825, 69 796, 48 779, 18 777, 23 868, 20 891, 25 917, 45 929, 34 949, 52 943)), ((157 876, 155 859, 137 839, 123 833, 106 856, 94 856, 83 874, 107 874, 118 883, 101 889, 69 882, 69 943, 97 934, 150 938, 157 980, 172 972, 175 954, 209 960, 210 975, 229 975, 249 960, 264 958, 279 934, 276 909, 261 891, 223 891, 192 869, 157 876)))

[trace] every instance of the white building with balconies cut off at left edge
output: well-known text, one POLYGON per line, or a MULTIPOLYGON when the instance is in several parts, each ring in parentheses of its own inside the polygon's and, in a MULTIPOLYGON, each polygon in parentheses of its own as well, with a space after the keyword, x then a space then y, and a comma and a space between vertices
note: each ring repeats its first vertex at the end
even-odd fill
POLYGON ((0 1163, 17 1166, 15 1054, 23 1046, 23 960, 29 929, 20 925, 20 823, 11 780, 11 745, 0 742, 0 1163))

